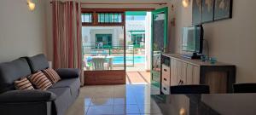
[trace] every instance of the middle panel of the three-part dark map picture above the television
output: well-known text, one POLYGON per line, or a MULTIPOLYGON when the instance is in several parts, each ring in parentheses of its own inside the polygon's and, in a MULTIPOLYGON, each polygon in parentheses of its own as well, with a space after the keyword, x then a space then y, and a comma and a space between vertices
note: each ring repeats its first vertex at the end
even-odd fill
POLYGON ((202 0, 201 23, 213 21, 214 0, 202 0))

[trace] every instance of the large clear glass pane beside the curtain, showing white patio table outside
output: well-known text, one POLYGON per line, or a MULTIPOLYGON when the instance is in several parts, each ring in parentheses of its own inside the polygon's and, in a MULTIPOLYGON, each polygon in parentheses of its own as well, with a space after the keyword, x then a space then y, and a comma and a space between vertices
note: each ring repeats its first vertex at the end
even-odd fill
POLYGON ((125 70, 123 26, 83 26, 84 71, 125 70))

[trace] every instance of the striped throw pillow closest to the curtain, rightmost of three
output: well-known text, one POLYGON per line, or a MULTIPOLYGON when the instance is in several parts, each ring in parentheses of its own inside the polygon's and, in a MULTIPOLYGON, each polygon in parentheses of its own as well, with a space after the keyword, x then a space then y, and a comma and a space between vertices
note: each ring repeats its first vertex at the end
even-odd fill
POLYGON ((55 72, 54 69, 45 69, 43 70, 43 72, 46 75, 46 77, 49 78, 50 82, 53 84, 61 80, 61 77, 58 75, 57 72, 55 72))

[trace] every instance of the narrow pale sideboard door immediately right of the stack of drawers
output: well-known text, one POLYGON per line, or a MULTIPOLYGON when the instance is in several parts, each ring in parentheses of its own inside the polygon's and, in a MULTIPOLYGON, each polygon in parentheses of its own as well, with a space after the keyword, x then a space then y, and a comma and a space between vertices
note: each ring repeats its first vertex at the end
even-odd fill
POLYGON ((171 60, 171 86, 177 85, 177 60, 171 60))

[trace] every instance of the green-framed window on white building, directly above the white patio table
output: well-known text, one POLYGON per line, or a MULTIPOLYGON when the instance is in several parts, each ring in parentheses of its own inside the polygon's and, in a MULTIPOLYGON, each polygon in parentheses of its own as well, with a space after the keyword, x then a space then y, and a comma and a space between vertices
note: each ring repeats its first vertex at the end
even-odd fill
POLYGON ((96 46, 98 48, 112 48, 112 34, 96 34, 96 46))

